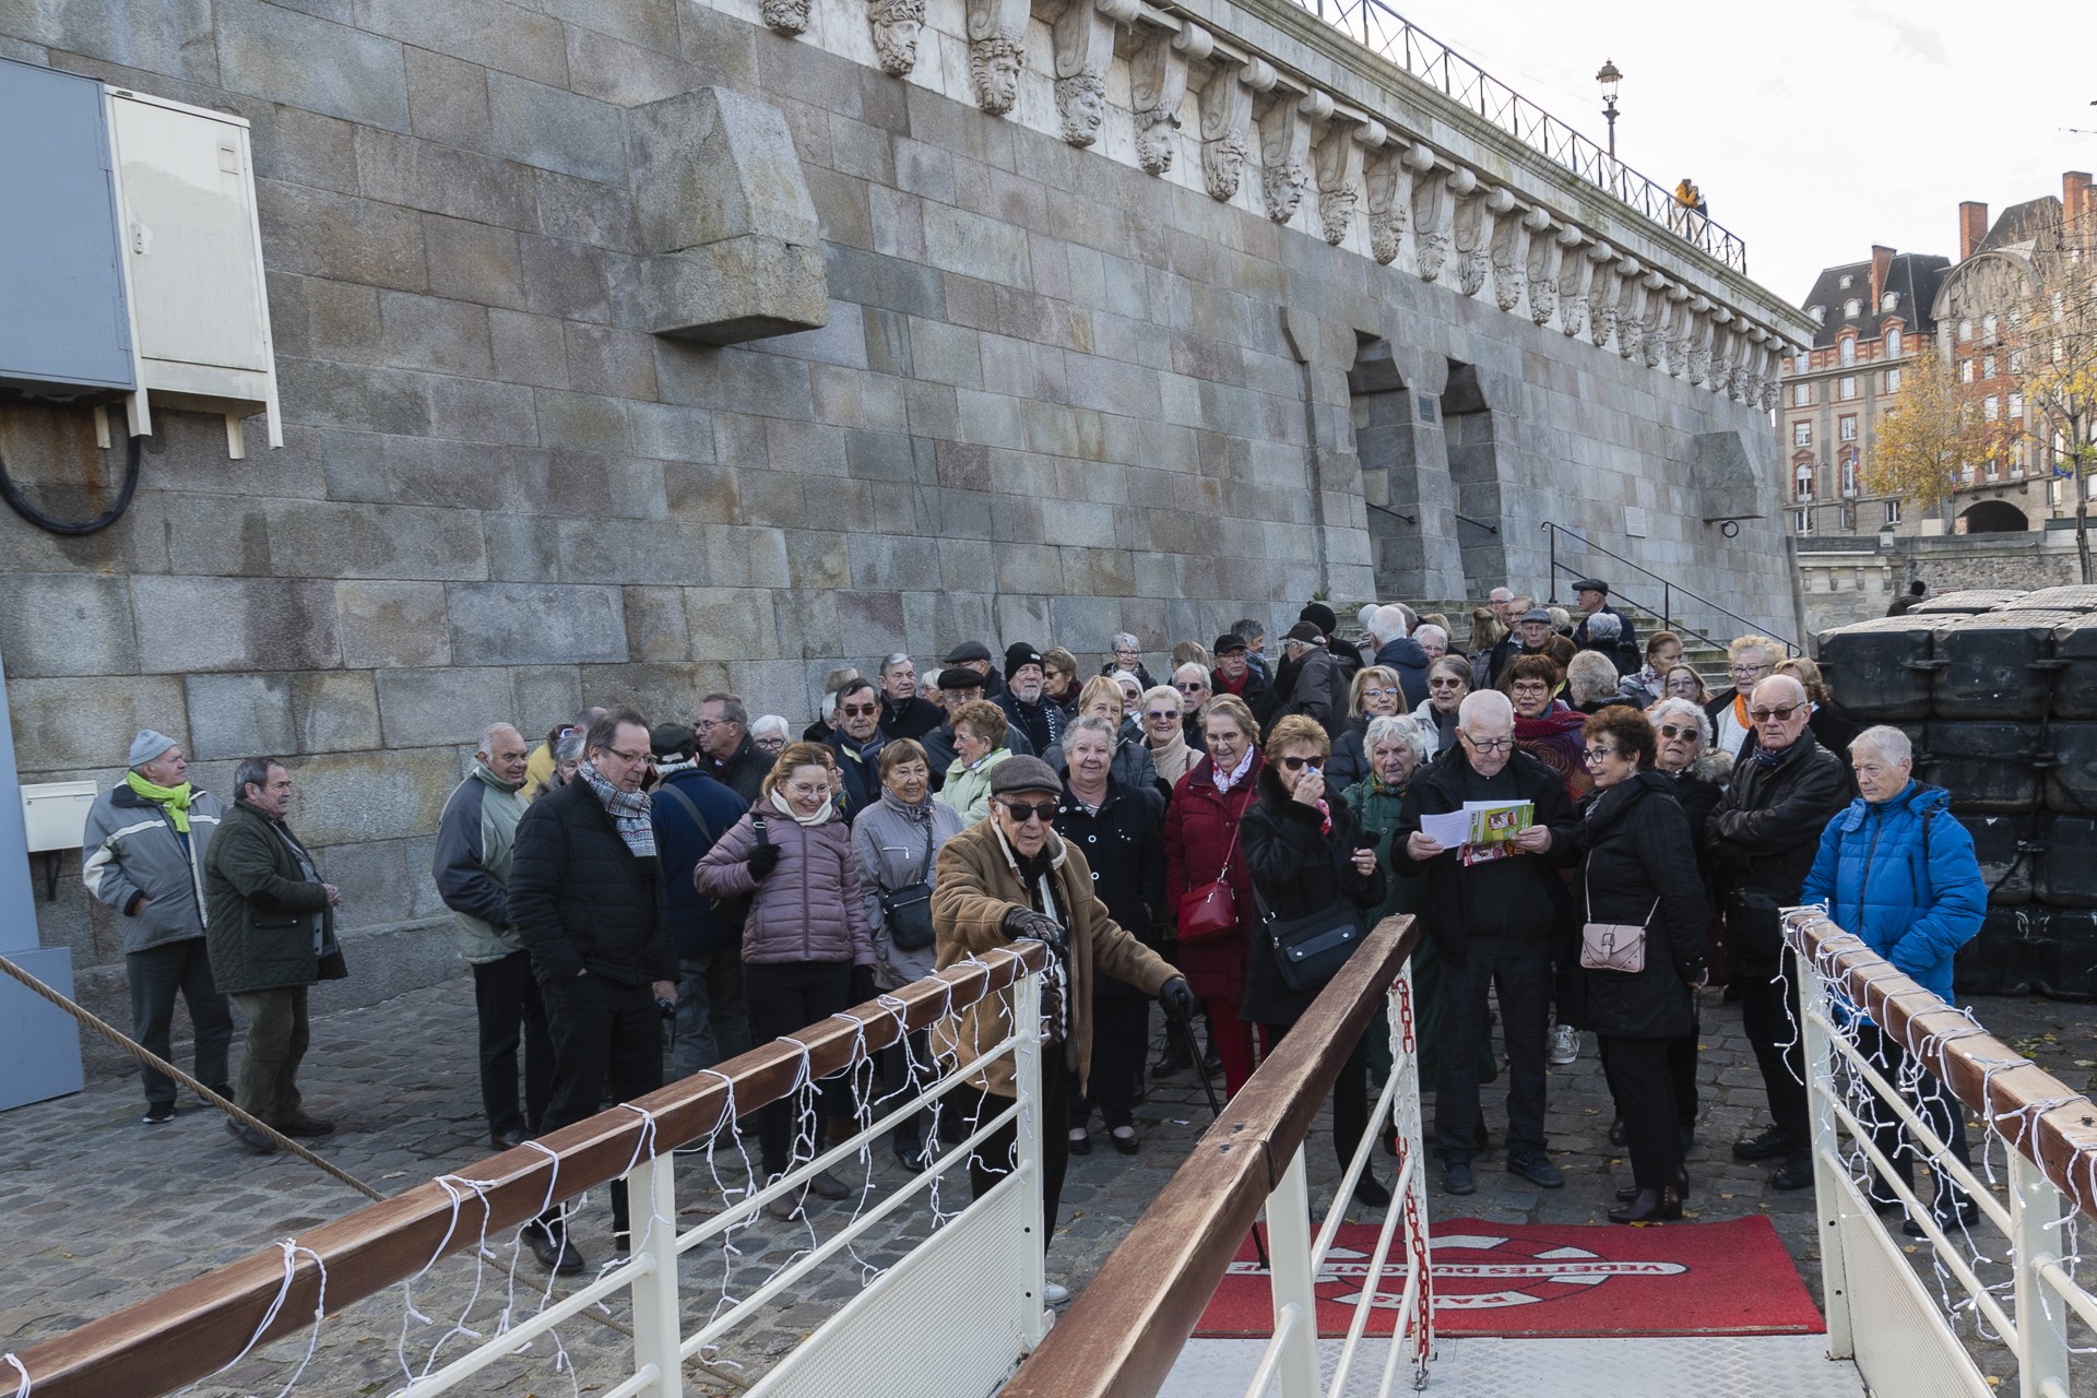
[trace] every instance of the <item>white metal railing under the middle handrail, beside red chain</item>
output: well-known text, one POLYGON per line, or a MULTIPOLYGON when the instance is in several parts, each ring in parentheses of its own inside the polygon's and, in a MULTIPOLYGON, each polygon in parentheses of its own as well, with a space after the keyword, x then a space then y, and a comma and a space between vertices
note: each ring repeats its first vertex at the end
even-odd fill
POLYGON ((1428 1245, 1428 1207, 1424 1161, 1426 1146, 1420 1130, 1420 1052, 1413 1037, 1413 973, 1411 962, 1399 973, 1386 998, 1390 1021, 1390 1079, 1384 1084, 1376 1111, 1369 1113, 1369 1130, 1348 1159, 1340 1182, 1334 1186, 1332 1207, 1311 1237, 1311 1191, 1304 1170, 1309 1140, 1296 1146, 1279 1186, 1267 1197, 1269 1228, 1269 1285, 1275 1302, 1275 1331, 1260 1354, 1260 1364, 1246 1385, 1246 1398, 1262 1398, 1279 1392, 1281 1398, 1315 1398, 1319 1394, 1348 1392, 1348 1377, 1361 1354, 1361 1341, 1369 1327, 1369 1316, 1380 1308, 1392 1308, 1390 1348, 1384 1354, 1384 1371, 1376 1394, 1390 1394, 1399 1375, 1399 1358, 1409 1358, 1413 1388, 1426 1388, 1428 1360, 1434 1356, 1434 1285, 1428 1245), (1355 1316, 1348 1320, 1346 1339, 1334 1362, 1332 1381, 1319 1379, 1317 1354, 1317 1287, 1355 1276, 1338 1276, 1327 1268, 1334 1239, 1346 1222, 1346 1207, 1355 1199, 1355 1182, 1361 1180, 1376 1155, 1378 1140, 1386 1128, 1399 1132, 1399 1176, 1390 1184, 1390 1207, 1384 1211, 1376 1235, 1376 1251, 1361 1272, 1361 1291, 1353 1297, 1355 1316), (1390 1266, 1390 1247, 1401 1243, 1401 1258, 1390 1266), (1397 1295, 1384 1291, 1386 1274, 1403 1276, 1397 1295))

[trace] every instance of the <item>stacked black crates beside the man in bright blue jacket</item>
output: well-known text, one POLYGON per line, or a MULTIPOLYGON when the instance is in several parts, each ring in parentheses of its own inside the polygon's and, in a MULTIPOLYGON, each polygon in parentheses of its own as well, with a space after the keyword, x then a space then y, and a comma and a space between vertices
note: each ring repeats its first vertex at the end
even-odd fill
POLYGON ((1818 654, 1843 711, 1902 727, 1973 834, 1988 920, 1959 989, 2097 1000, 2097 587, 1946 593, 1818 654))

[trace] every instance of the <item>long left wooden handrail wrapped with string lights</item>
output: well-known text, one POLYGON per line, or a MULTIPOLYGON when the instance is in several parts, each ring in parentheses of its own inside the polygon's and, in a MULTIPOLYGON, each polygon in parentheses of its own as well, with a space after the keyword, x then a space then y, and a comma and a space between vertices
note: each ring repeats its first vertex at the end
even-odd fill
MULTIPOLYGON (((889 1000, 904 1004, 900 1017, 874 1002, 860 1004, 809 1025, 793 1044, 774 1040, 721 1063, 713 1073, 694 1073, 650 1092, 635 1107, 646 1109, 656 1123, 654 1153, 669 1155, 673 1146, 715 1130, 730 1105, 730 1082, 738 1115, 788 1096, 803 1061, 795 1044, 807 1046, 809 1075, 835 1073, 856 1052, 887 1048, 904 1031, 923 1029, 948 1008, 965 1008, 1042 970, 1046 960, 1046 949, 1032 941, 988 952, 975 964, 952 966, 893 991, 889 1000)), ((285 1283, 281 1247, 90 1320, 17 1358, 29 1371, 38 1398, 109 1398, 185 1388, 224 1369, 243 1350, 312 1327, 323 1266, 327 1310, 336 1314, 415 1276, 440 1255, 478 1245, 482 1232, 495 1237, 520 1226, 545 1207, 549 1193, 556 1201, 572 1199, 585 1188, 617 1180, 635 1151, 644 1149, 644 1130, 640 1113, 614 1107, 539 1138, 558 1153, 558 1167, 545 1151, 518 1146, 455 1176, 487 1184, 478 1191, 478 1199, 487 1201, 484 1228, 478 1199, 457 1207, 461 1218, 453 1226, 451 1195, 430 1182, 300 1235, 291 1287, 268 1327, 262 1327, 262 1316, 285 1283)), ((4 1373, 0 1388, 17 1377, 10 1369, 4 1373)))

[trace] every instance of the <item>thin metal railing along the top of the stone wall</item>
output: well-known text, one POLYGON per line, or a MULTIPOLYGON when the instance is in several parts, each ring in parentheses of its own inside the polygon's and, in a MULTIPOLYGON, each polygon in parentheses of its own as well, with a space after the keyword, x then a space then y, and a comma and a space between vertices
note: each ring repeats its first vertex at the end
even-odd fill
POLYGON ((1631 170, 1600 143, 1543 111, 1384 0, 1292 2, 1684 243, 1736 272, 1747 272, 1747 243, 1736 233, 1711 222, 1709 214, 1688 207, 1671 189, 1631 170))

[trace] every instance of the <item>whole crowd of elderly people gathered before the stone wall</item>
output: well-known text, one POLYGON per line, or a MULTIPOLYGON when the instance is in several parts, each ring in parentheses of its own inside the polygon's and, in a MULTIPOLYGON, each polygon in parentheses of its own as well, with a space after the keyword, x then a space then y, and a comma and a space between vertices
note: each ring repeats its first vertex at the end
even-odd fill
MULTIPOLYGON (((1948 998, 1986 901, 1971 838, 1944 815, 1946 794, 1915 782, 1906 736, 1858 731, 1812 660, 1738 637, 1732 685, 1713 694, 1678 635, 1640 643, 1606 583, 1583 578, 1575 595, 1566 612, 1495 589, 1464 650, 1441 614, 1371 604, 1357 641, 1313 602, 1275 656, 1256 618, 1168 654, 1097 637, 1099 673, 1028 641, 1002 658, 965 641, 925 675, 891 654, 870 675, 835 671, 799 736, 734 694, 665 723, 589 708, 541 742, 489 723, 445 803, 432 872, 472 966, 491 1144, 663 1086, 665 1052, 669 1073, 698 1073, 1034 939, 1061 968, 1042 1008, 1053 1220, 1095 1123, 1114 1151, 1143 1149, 1147 1077, 1193 1069, 1237 1092, 1334 954, 1411 914, 1426 933, 1415 1027, 1447 1193, 1476 1188, 1495 1130, 1483 1086, 1501 1071, 1501 1163, 1543 1188, 1564 1182, 1545 1136, 1550 1069, 1575 1065, 1592 1031, 1617 1105, 1610 1140, 1629 1157, 1610 1218, 1680 1218, 1707 985, 1738 1002, 1770 1107, 1768 1130, 1734 1155, 1772 1161, 1774 1188, 1812 1184, 1799 981, 1778 910, 1829 901, 1948 998), (1149 660, 1170 679, 1155 683, 1149 660), (1155 1063, 1151 1004, 1166 1010, 1155 1063)), ((84 878, 124 916, 138 1040, 166 1056, 187 998, 197 1077, 277 1132, 319 1136, 331 1123, 304 1111, 298 1069, 308 987, 346 975, 340 893, 291 834, 289 803, 281 761, 243 763, 229 807, 187 784, 178 742, 143 731, 90 815, 84 878), (237 1086, 229 998, 247 1035, 237 1086)), ((929 1048, 973 1058, 1009 1012, 986 1002, 937 1025, 935 1044, 898 1046, 887 1082, 906 1082, 929 1048)), ((1376 1025, 1334 1086, 1342 1163, 1388 1071, 1376 1025)), ((977 1111, 994 1111, 1013 1094, 1009 1061, 973 1086, 977 1111)), ((1917 1092, 1963 1151, 1950 1098, 1917 1092)), ((145 1073, 145 1098, 147 1123, 174 1115, 168 1077, 145 1073)), ((849 1115, 826 1084, 816 1136, 849 1132, 849 1115)), ((275 1151, 237 1119, 229 1132, 275 1151)), ((755 1134, 770 1178, 812 1144, 786 1105, 755 1113, 755 1134)), ((891 1146, 923 1167, 925 1123, 906 1119, 891 1146)), ((1915 1159, 1896 1126, 1883 1146, 1902 1167, 1915 1159)), ((996 1184, 1009 1155, 1007 1130, 975 1153, 973 1186, 996 1184)), ((805 1193, 843 1199, 847 1186, 818 1172, 805 1193)), ((1369 1170, 1357 1197, 1378 1205, 1388 1191, 1369 1170)), ((805 1203, 782 1195, 768 1209, 791 1220, 805 1203)), ((1940 1186, 1936 1207, 1973 1205, 1940 1186)), ((623 1241, 617 1186, 612 1230, 623 1241)), ((560 1209, 526 1232, 545 1266, 583 1266, 560 1209)))

